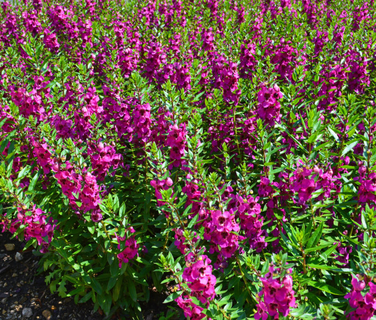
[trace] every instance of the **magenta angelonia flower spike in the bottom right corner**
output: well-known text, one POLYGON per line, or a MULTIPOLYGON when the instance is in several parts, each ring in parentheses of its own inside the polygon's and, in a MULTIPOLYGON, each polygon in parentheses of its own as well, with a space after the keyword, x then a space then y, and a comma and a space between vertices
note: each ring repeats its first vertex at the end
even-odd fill
POLYGON ((376 284, 360 274, 352 276, 351 284, 352 290, 344 298, 354 310, 346 315, 347 319, 371 319, 376 313, 376 284))

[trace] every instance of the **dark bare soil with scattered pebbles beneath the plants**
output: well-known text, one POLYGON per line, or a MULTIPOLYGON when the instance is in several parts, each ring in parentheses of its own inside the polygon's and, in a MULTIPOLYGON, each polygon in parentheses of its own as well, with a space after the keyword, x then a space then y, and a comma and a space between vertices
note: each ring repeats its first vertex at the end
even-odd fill
MULTIPOLYGON (((51 294, 45 282, 47 273, 37 275, 38 261, 39 257, 31 251, 23 252, 23 243, 11 239, 7 232, 0 233, 0 320, 104 319, 100 310, 93 313, 91 300, 76 305, 71 298, 51 294), (5 244, 13 244, 14 249, 7 250, 5 244), (16 261, 17 253, 22 255, 22 260, 16 261)), ((145 320, 166 316, 168 309, 164 299, 164 295, 151 290, 149 303, 142 305, 145 320)), ((113 319, 130 318, 120 313, 113 319)))

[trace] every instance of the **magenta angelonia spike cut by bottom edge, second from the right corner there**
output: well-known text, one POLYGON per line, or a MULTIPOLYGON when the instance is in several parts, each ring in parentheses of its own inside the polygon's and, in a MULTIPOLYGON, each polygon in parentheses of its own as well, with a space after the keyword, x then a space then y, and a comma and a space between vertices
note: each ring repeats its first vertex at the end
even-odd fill
POLYGON ((269 272, 261 277, 262 289, 258 293, 255 319, 266 320, 268 317, 280 319, 287 317, 290 308, 295 307, 294 290, 292 290, 292 269, 287 269, 281 276, 282 268, 269 265, 269 272))

